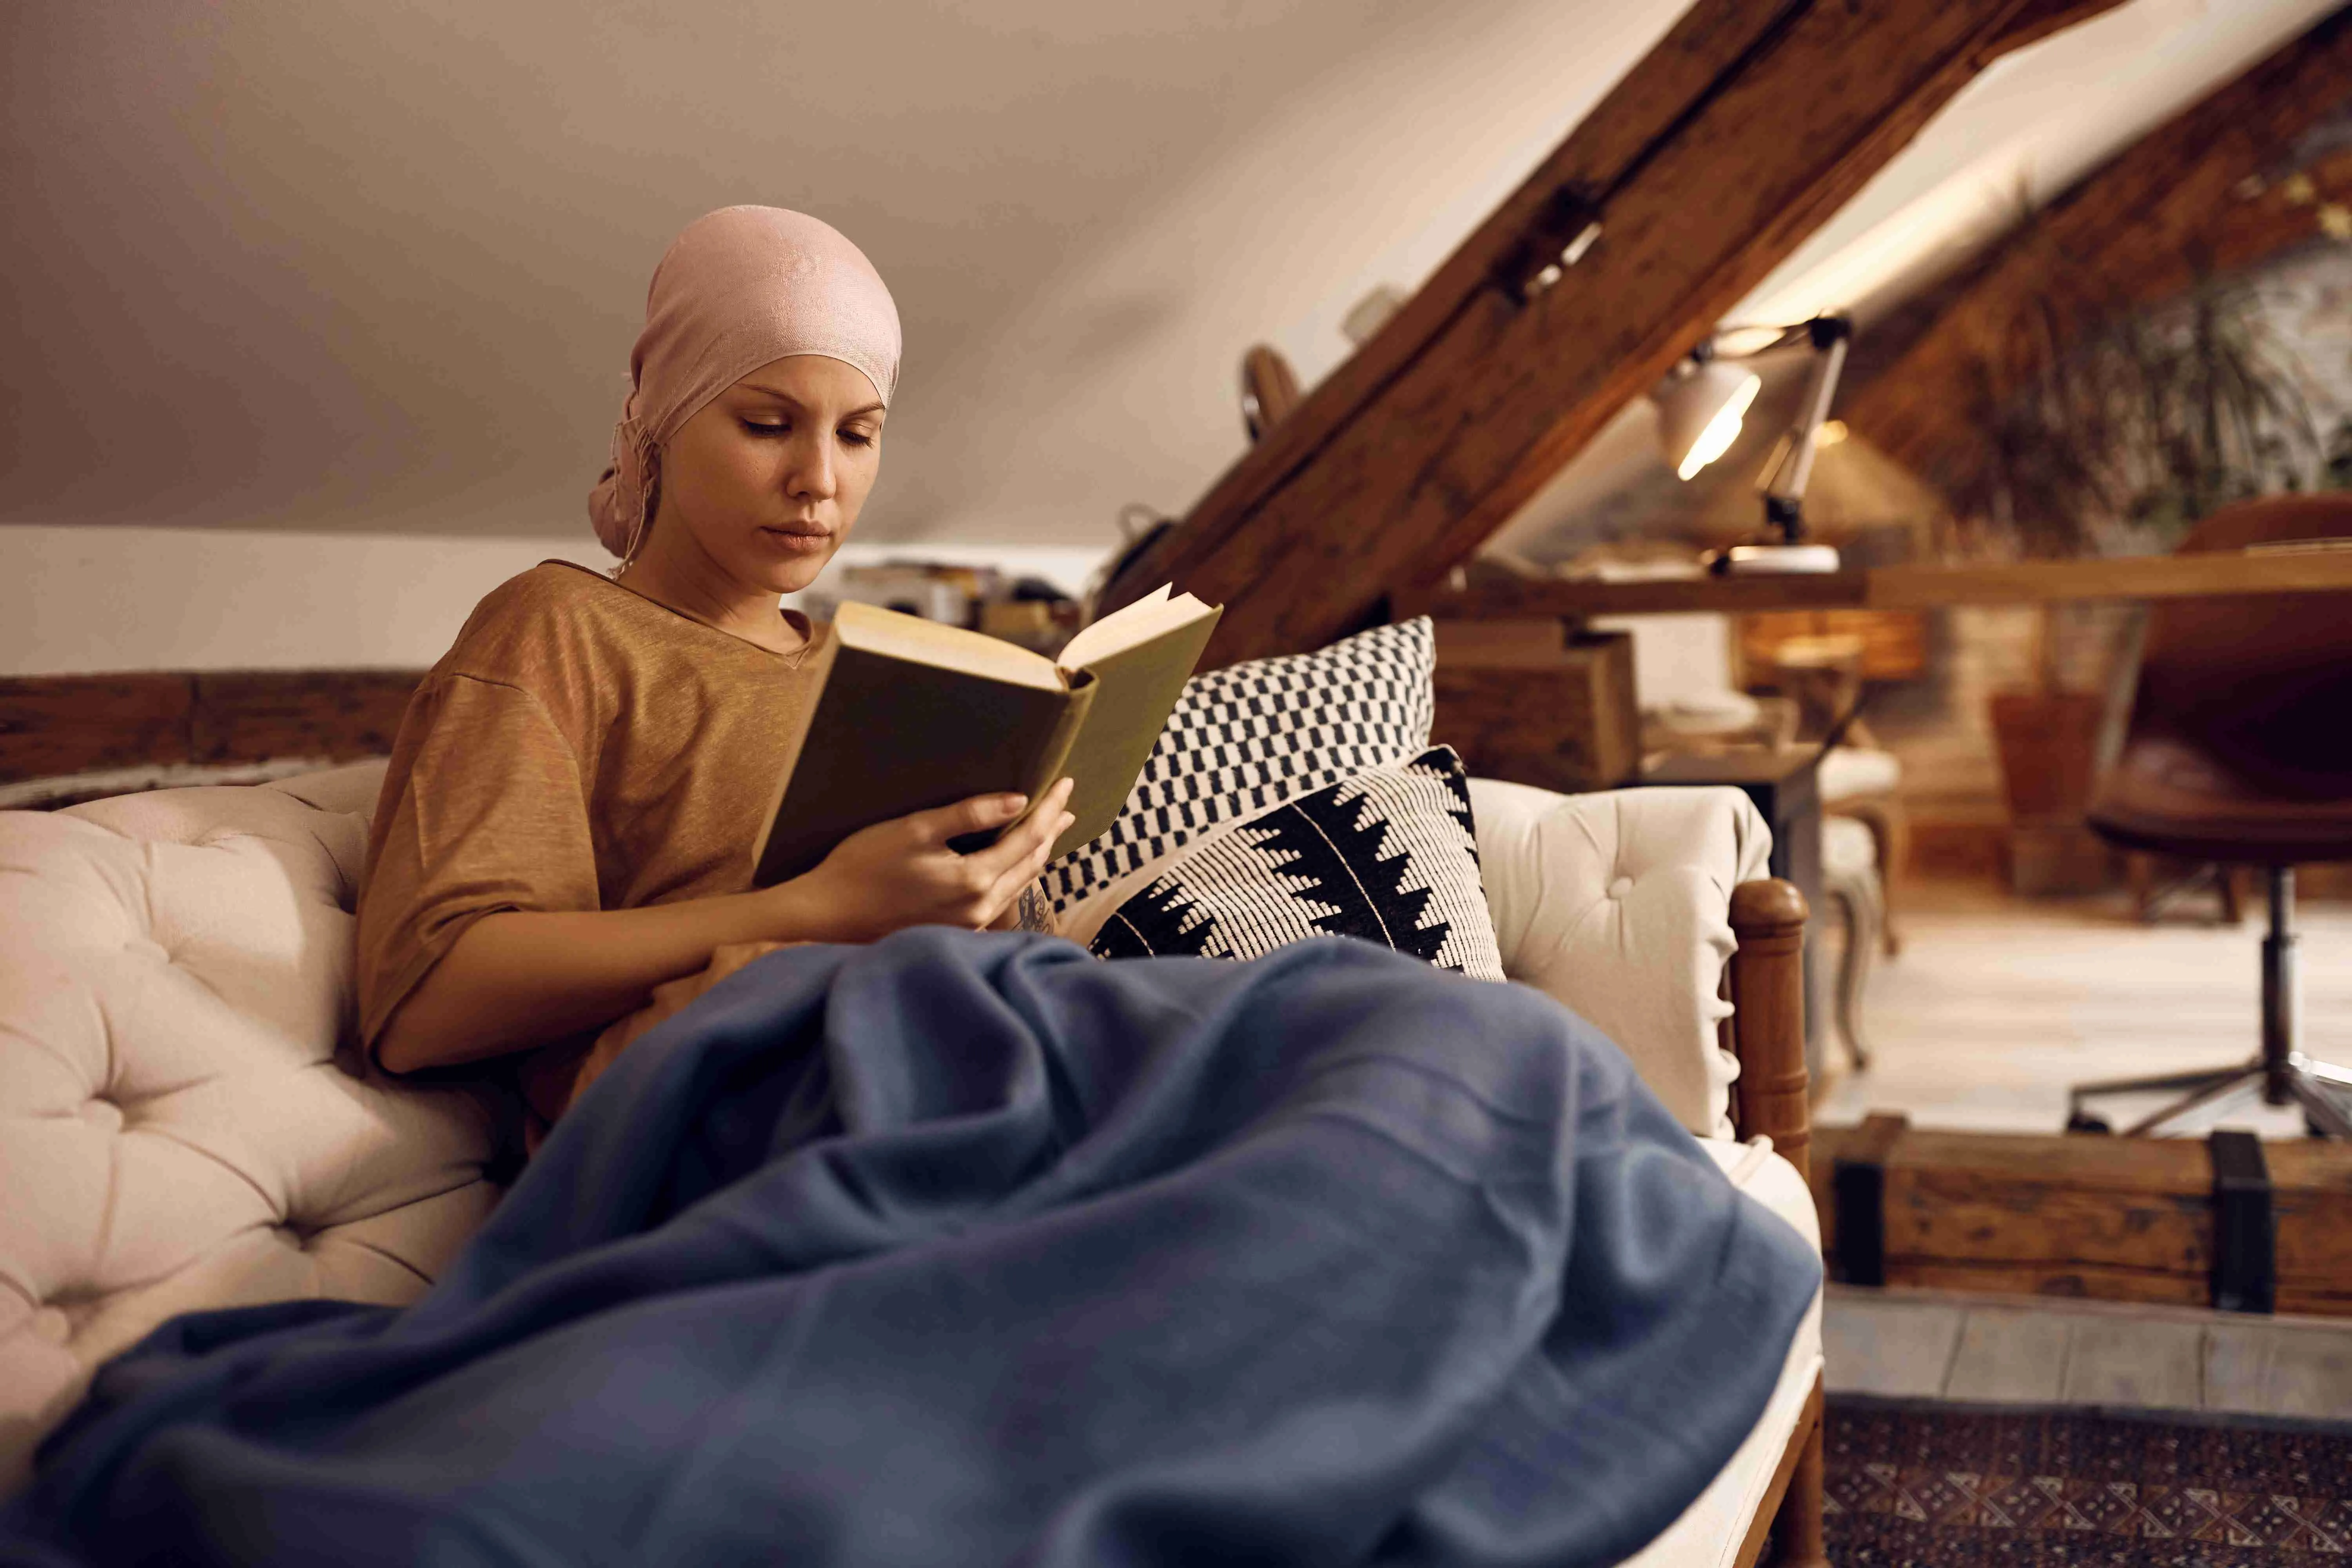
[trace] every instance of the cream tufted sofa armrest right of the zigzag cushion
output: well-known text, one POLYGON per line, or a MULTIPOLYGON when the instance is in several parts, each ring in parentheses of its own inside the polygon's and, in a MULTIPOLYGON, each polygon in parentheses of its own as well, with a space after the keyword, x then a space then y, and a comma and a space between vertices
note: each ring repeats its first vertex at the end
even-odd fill
POLYGON ((1472 778, 1470 809, 1503 973, 1613 1039, 1686 1128, 1731 1135, 1731 891, 1771 856, 1755 804, 1731 788, 1472 778))

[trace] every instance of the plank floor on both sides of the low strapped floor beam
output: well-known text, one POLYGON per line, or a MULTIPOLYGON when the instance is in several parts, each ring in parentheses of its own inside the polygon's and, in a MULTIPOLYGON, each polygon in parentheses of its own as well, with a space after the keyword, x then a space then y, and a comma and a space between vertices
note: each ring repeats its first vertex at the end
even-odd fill
MULTIPOLYGON (((1872 1067, 1842 1070, 1832 1032, 1820 1124, 1900 1110, 1917 1126, 2056 1133, 2074 1081, 2253 1056, 2260 905, 2234 929, 2199 924, 2211 903, 2143 926, 2122 893, 1905 891, 1903 957, 1875 966, 1863 999, 1872 1067)), ((2307 903, 2298 922, 2305 1048, 2352 1065, 2352 905, 2307 903)), ((2157 1103, 2107 1107, 2122 1121, 2157 1103)), ((2303 1135, 2300 1112, 2251 1093, 2183 1131, 2211 1126, 2303 1135)), ((1832 1286, 1823 1352, 1832 1394, 2352 1420, 2347 1319, 1832 1286)))

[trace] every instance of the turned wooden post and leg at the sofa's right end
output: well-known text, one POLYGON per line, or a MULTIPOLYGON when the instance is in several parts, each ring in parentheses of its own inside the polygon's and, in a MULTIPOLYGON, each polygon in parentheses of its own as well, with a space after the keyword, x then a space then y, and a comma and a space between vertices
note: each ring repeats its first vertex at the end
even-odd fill
MULTIPOLYGON (((1806 1171, 1811 1105, 1804 1070, 1804 922, 1797 884, 1778 877, 1731 889, 1736 947, 1724 973, 1731 1018, 1724 1048, 1740 1063, 1731 1124, 1740 1138, 1762 1133, 1797 1175, 1806 1171)), ((1820 1378, 1804 1401, 1797 1429, 1773 1467, 1771 1488, 1740 1542, 1738 1568, 1773 1561, 1783 1568, 1828 1568, 1820 1537, 1820 1378), (1771 1559, 1764 1547, 1771 1544, 1771 1559)))

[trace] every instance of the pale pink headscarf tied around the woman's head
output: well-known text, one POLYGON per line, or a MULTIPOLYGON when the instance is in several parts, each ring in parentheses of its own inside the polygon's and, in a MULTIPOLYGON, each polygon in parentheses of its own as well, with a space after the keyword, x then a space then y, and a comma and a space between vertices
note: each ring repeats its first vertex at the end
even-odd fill
POLYGON ((644 292, 630 393, 588 522, 628 559, 644 536, 654 451, 750 371, 786 355, 854 364, 889 404, 898 306, 842 230, 783 207, 720 207, 687 223, 644 292))

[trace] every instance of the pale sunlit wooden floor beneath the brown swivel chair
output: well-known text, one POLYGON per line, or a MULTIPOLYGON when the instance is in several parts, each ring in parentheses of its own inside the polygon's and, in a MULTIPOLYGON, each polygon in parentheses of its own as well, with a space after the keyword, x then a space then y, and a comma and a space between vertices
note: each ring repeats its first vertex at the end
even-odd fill
MULTIPOLYGON (((2251 1058, 2260 1027, 2263 914, 2197 924, 2211 900, 2159 926, 2124 893, 2009 898, 1990 884, 1912 884, 1898 912, 1903 957, 1882 959, 1863 994, 1870 1072, 1842 1072, 1813 1119, 1907 1112, 1917 1126, 2056 1133, 2084 1079, 2218 1067, 2251 1058)), ((2303 1032, 2312 1056, 2352 1065, 2352 905, 2305 903, 2303 1032)), ((1832 943, 1835 950, 1835 943, 1832 943)), ((2117 1124, 2161 1100, 2107 1100, 2117 1124)), ((2303 1114, 2239 1095, 2183 1131, 2244 1126, 2300 1138, 2303 1114)))

